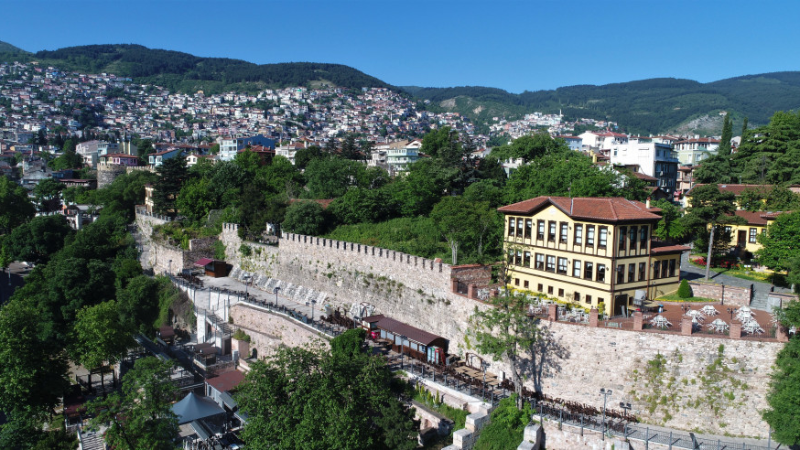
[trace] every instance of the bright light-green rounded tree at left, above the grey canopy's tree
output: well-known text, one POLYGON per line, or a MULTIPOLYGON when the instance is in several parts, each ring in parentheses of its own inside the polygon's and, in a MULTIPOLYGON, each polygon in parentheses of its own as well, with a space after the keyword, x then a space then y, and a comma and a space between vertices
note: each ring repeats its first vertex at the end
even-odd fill
POLYGON ((88 368, 114 365, 135 345, 131 330, 122 326, 114 300, 78 311, 73 326, 73 360, 88 368))

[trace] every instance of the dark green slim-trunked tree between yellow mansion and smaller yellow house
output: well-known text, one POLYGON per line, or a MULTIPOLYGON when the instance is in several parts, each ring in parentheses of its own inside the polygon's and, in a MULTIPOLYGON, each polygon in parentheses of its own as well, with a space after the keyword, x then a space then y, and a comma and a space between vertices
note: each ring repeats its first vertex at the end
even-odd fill
POLYGON ((710 227, 706 281, 711 273, 716 228, 720 225, 746 223, 743 218, 733 215, 734 211, 736 211, 736 197, 732 192, 723 191, 716 184, 697 186, 692 189, 690 207, 683 218, 687 229, 695 234, 704 234, 710 227))

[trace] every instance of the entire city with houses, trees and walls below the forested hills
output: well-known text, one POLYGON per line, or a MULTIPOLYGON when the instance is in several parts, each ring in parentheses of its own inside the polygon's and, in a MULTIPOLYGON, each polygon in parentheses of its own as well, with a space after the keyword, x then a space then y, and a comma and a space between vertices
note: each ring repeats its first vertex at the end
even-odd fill
POLYGON ((0 63, 0 447, 800 444, 800 114, 433 106, 0 63))

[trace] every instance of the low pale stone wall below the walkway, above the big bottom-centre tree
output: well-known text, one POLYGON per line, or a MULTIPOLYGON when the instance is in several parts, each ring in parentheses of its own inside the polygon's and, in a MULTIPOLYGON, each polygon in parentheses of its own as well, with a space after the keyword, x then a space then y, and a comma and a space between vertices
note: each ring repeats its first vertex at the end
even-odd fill
POLYGON ((328 339, 292 319, 257 307, 236 304, 231 306, 233 327, 250 335, 250 350, 259 358, 273 353, 278 347, 297 347, 311 343, 327 345, 328 339))

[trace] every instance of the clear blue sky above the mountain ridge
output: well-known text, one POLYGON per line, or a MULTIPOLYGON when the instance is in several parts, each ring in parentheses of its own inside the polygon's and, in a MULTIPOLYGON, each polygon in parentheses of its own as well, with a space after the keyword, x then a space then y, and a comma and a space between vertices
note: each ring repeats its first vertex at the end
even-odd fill
POLYGON ((798 70, 798 17, 796 0, 0 0, 0 40, 339 63, 398 86, 522 92, 798 70))

